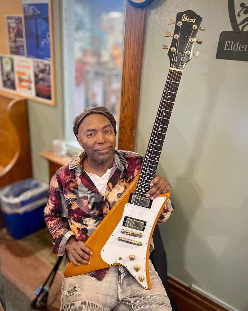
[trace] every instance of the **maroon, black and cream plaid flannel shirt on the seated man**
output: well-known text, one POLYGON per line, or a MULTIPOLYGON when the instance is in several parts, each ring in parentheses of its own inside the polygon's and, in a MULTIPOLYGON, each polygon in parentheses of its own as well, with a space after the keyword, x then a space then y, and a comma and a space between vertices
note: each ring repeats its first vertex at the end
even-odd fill
MULTIPOLYGON (((74 235, 86 241, 103 220, 111 207, 134 179, 134 171, 140 171, 143 156, 131 151, 115 151, 104 196, 98 191, 90 177, 82 169, 81 161, 86 157, 82 151, 53 176, 49 188, 49 201, 44 212, 47 228, 53 236, 54 255, 66 253, 65 244, 74 235)), ((174 209, 167 201, 157 223, 165 222, 174 209)), ((152 251, 153 242, 150 246, 152 251)), ((109 268, 86 273, 102 280, 109 268)))

